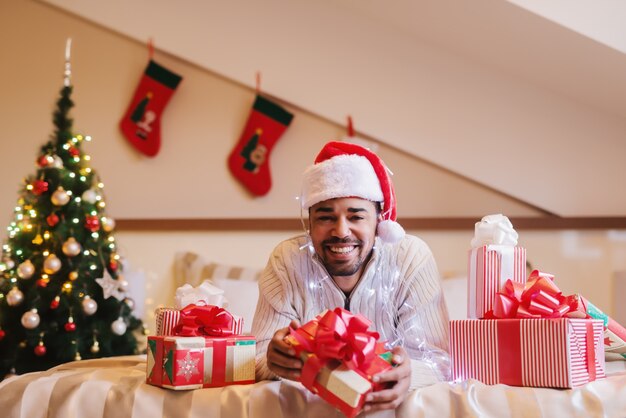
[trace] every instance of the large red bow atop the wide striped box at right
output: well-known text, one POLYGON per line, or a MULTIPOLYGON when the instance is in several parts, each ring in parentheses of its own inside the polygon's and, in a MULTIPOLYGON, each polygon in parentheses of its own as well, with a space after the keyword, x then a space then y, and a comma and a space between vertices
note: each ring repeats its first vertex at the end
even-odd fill
POLYGON ((553 280, 552 274, 538 270, 530 274, 525 285, 507 280, 485 318, 589 318, 582 299, 563 296, 553 280))

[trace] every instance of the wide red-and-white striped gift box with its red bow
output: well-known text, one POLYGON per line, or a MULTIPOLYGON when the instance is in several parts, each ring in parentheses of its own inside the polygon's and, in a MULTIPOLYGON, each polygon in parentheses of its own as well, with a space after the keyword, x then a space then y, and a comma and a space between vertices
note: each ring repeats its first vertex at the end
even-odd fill
POLYGON ((535 270, 525 284, 507 280, 487 319, 450 321, 453 378, 571 388, 605 377, 602 321, 553 278, 535 270))

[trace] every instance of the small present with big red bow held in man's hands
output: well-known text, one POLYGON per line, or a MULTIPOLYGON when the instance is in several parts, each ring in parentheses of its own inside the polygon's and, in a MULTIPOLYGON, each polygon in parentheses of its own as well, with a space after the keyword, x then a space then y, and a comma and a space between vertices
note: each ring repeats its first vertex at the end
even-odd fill
POLYGON ((304 362, 302 384, 347 417, 359 413, 365 395, 383 387, 372 377, 392 368, 391 353, 369 326, 362 315, 335 308, 285 338, 304 362))

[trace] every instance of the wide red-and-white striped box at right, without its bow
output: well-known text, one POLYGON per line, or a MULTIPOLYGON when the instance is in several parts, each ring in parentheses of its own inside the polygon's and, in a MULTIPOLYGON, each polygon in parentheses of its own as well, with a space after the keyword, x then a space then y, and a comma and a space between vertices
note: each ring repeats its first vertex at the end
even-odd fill
POLYGON ((595 319, 453 320, 450 357, 454 380, 488 385, 573 388, 606 377, 595 319))

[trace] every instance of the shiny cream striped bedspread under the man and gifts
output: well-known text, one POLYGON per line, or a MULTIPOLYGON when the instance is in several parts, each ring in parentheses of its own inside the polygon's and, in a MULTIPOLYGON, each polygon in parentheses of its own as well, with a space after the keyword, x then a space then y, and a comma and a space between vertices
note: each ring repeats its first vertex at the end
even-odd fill
MULTIPOLYGON (((573 390, 487 386, 470 380, 412 392, 375 417, 626 417, 626 370, 573 390)), ((147 385, 145 356, 67 363, 0 383, 5 418, 340 417, 298 383, 172 391, 147 385)), ((366 415, 362 415, 366 416, 366 415)))

